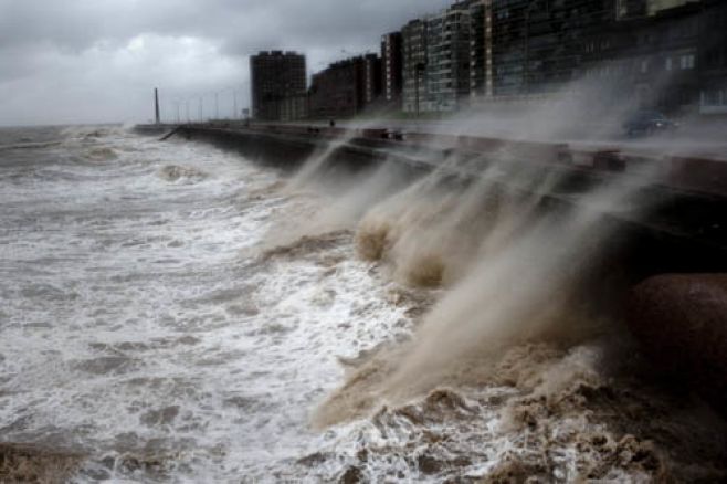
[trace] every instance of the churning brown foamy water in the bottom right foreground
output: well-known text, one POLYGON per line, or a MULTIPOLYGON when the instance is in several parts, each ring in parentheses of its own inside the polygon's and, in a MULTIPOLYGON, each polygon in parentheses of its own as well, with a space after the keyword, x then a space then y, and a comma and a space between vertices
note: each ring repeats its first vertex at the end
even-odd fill
POLYGON ((488 361, 487 371, 485 361, 471 361, 480 370, 466 385, 453 379, 398 404, 359 408, 364 420, 348 459, 340 462, 340 450, 318 453, 318 469, 328 463, 336 471, 316 475, 492 483, 726 478, 724 422, 688 394, 636 377, 645 365, 638 358, 607 371, 607 351, 603 341, 517 345, 488 361))

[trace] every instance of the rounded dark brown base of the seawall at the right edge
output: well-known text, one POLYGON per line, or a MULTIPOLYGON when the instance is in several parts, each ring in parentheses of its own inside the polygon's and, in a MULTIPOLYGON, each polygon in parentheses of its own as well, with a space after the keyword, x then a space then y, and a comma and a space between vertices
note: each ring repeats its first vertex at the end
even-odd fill
POLYGON ((664 378, 727 415, 727 274, 664 274, 632 290, 629 326, 664 378))

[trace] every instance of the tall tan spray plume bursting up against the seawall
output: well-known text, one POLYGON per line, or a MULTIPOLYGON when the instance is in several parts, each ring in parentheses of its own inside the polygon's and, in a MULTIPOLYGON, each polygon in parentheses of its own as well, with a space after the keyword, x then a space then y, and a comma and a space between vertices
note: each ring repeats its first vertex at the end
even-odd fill
POLYGON ((571 207, 554 198, 558 180, 540 170, 495 164, 454 190, 443 190, 442 179, 434 172, 384 201, 359 228, 359 251, 392 265, 403 281, 429 282, 421 277, 428 271, 452 274, 439 277, 452 290, 398 365, 391 381, 397 391, 415 391, 422 378, 432 380, 421 382, 424 389, 438 379, 452 381, 463 375, 459 361, 496 357, 517 343, 592 334, 578 301, 610 236, 603 213, 623 209, 639 188, 615 180, 571 207))

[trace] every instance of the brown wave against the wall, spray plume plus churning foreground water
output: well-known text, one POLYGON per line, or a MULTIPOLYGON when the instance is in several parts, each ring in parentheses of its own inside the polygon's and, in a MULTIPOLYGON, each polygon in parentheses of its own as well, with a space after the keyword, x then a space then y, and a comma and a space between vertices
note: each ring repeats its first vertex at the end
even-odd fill
POLYGON ((602 311, 602 266, 618 239, 604 213, 647 209, 639 193, 654 169, 573 206, 556 170, 495 160, 478 181, 461 182, 452 165, 359 224, 362 257, 404 283, 449 290, 411 340, 349 371, 314 414, 319 428, 366 422, 344 472, 724 478, 724 424, 688 394, 652 385, 647 364, 625 357, 634 349, 618 317, 602 311))

